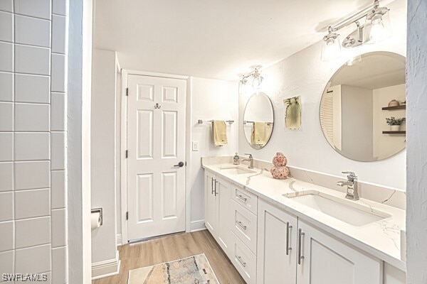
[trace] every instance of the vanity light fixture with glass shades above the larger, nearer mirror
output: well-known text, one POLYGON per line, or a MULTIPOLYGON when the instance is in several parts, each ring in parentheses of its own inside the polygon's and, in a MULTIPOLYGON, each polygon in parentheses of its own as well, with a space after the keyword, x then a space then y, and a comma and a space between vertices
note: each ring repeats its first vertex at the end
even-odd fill
POLYGON ((356 30, 342 41, 343 48, 356 48, 359 45, 378 43, 389 38, 391 35, 389 11, 390 9, 379 6, 379 0, 375 0, 374 8, 364 9, 336 26, 329 26, 328 34, 323 38, 322 61, 334 60, 341 56, 339 34, 335 32, 349 24, 356 24, 356 30), (362 18, 365 18, 364 25, 359 22, 362 18))

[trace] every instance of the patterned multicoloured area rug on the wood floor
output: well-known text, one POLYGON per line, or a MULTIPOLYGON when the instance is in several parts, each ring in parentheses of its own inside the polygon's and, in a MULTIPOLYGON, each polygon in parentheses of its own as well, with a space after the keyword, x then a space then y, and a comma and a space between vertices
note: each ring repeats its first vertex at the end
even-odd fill
POLYGON ((127 284, 219 284, 204 253, 129 271, 127 284))

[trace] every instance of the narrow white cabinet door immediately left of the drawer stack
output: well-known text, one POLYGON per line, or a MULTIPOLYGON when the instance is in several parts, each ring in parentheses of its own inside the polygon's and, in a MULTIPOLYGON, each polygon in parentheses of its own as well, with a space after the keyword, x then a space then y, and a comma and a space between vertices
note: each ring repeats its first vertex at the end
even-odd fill
POLYGON ((231 202, 231 184, 217 178, 216 212, 218 212, 218 225, 216 240, 228 257, 231 255, 231 227, 233 226, 231 202))

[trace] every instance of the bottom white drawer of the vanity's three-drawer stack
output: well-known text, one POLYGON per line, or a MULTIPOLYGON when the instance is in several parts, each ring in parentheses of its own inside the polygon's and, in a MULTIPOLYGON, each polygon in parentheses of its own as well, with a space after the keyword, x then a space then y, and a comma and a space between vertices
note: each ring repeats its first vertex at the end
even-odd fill
POLYGON ((256 283, 256 256, 233 234, 231 262, 247 284, 256 283))

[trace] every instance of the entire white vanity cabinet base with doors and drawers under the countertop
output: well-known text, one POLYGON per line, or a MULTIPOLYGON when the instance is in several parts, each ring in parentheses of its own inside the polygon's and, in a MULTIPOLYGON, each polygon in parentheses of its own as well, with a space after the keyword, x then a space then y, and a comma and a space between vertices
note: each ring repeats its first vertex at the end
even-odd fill
POLYGON ((404 284, 404 271, 205 171, 205 224, 247 284, 404 284))

